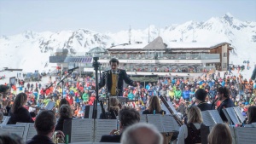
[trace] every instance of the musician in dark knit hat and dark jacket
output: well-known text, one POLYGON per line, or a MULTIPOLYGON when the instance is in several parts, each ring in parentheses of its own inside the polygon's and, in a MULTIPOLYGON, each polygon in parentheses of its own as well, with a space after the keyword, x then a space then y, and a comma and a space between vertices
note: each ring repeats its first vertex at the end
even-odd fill
POLYGON ((197 104, 196 107, 202 111, 212 110, 212 105, 208 104, 206 100, 207 91, 205 89, 198 89, 195 92, 195 101, 197 104))

